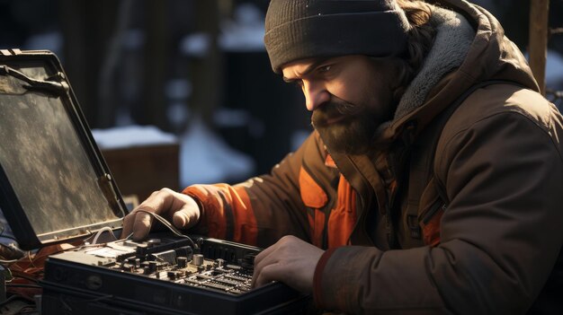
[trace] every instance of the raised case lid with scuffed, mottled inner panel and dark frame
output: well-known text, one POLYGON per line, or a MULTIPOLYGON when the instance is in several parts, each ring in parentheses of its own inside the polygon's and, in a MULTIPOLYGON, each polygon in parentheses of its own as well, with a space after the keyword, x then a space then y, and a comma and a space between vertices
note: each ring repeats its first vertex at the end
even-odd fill
POLYGON ((0 208, 22 249, 72 241, 126 214, 58 58, 0 50, 0 208))

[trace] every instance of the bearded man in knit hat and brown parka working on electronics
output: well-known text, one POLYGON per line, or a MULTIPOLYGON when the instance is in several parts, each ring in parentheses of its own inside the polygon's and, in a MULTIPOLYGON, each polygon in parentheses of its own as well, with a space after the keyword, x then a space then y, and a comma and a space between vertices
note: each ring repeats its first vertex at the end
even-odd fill
MULTIPOLYGON (((270 174, 155 192, 126 216, 264 247, 347 313, 563 313, 563 118, 463 0, 272 0, 264 42, 315 131, 270 174)), ((275 144, 273 144, 275 145, 275 144)))

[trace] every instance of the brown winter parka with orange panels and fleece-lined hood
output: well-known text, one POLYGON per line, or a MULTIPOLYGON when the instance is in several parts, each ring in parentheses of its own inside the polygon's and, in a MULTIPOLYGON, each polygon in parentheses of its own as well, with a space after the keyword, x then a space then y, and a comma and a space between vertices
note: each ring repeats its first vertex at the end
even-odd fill
POLYGON ((563 118, 490 13, 438 5, 433 48, 375 157, 329 154, 314 132, 268 175, 185 188, 202 208, 196 231, 327 249, 314 276, 321 309, 563 313, 563 118), (487 80, 512 83, 472 92, 443 126, 431 173, 416 171, 440 114, 487 80))

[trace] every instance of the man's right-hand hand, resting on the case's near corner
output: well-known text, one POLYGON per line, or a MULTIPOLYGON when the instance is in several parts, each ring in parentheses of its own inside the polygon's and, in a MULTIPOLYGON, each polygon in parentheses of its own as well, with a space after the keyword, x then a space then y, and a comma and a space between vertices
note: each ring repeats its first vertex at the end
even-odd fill
POLYGON ((313 276, 323 250, 287 235, 255 258, 253 286, 280 281, 301 293, 313 292, 313 276))

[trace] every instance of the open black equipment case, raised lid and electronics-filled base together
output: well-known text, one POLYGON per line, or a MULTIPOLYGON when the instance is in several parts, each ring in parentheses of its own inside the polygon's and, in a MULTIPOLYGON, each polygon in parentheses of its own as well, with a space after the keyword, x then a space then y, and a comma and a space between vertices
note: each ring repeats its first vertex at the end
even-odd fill
POLYGON ((250 287, 261 250, 252 246, 173 233, 96 244, 121 232, 128 210, 53 53, 0 50, 0 141, 0 208, 20 247, 79 243, 47 258, 41 314, 308 308, 310 297, 284 284, 250 287))

